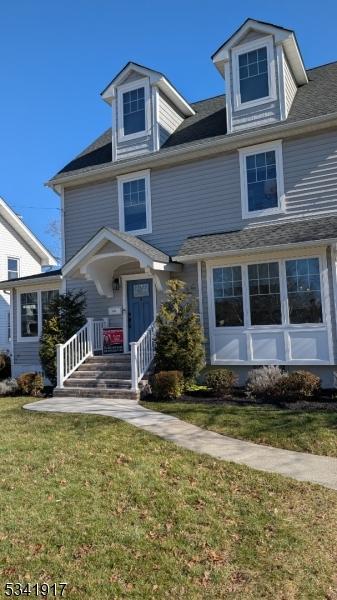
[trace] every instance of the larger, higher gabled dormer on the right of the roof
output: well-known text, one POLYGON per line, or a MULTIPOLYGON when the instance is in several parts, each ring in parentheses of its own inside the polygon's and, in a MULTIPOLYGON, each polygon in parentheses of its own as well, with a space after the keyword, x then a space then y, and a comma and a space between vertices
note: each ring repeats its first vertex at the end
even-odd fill
POLYGON ((254 19, 212 60, 226 81, 228 133, 284 121, 298 87, 308 83, 294 32, 254 19))

